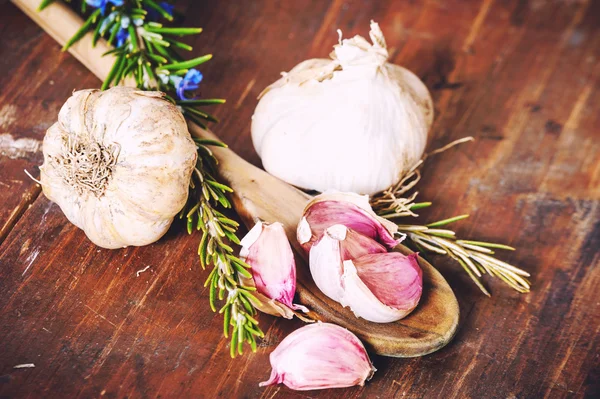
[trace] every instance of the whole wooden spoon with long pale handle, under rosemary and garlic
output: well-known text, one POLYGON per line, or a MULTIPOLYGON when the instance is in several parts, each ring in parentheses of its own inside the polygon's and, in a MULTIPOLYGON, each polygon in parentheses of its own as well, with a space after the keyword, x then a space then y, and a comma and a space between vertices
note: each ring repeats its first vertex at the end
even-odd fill
MULTIPOLYGON (((38 12, 39 0, 12 0, 46 32, 63 45, 81 27, 79 16, 61 3, 53 3, 38 12)), ((104 79, 114 62, 102 57, 110 49, 100 40, 92 47, 91 35, 84 36, 69 52, 100 79, 104 79)), ((212 133, 190 124, 198 137, 217 139, 212 133)), ((296 253, 302 253, 296 241, 296 225, 309 196, 268 173, 244 161, 233 151, 215 148, 221 177, 235 190, 233 202, 244 223, 251 228, 258 219, 281 222, 296 253)), ((396 250, 409 254, 399 245, 396 250)), ((440 273, 422 258, 423 296, 419 306, 405 319, 395 323, 376 324, 358 319, 354 314, 331 301, 312 281, 304 259, 297 257, 298 296, 309 306, 314 316, 346 327, 358 335, 377 354, 394 357, 422 356, 446 345, 458 326, 458 303, 448 283, 440 273)))

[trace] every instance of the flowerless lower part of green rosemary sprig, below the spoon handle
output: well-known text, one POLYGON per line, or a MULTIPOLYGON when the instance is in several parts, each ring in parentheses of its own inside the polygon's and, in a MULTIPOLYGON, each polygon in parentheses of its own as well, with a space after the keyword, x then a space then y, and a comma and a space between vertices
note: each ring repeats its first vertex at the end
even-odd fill
POLYGON ((198 161, 191 181, 188 205, 180 217, 187 220, 188 233, 194 227, 202 231, 198 256, 202 268, 212 265, 204 286, 209 287, 209 303, 217 311, 216 299, 226 300, 219 309, 223 314, 223 334, 231 332, 231 357, 243 353, 244 342, 256 351, 256 339, 264 336, 255 319, 260 301, 252 294, 256 288, 243 284, 242 277, 252 278, 248 264, 236 257, 227 242, 240 243, 236 233, 238 223, 217 207, 231 208, 227 195, 233 190, 215 179, 217 160, 208 146, 225 147, 212 140, 194 139, 198 147, 198 161))

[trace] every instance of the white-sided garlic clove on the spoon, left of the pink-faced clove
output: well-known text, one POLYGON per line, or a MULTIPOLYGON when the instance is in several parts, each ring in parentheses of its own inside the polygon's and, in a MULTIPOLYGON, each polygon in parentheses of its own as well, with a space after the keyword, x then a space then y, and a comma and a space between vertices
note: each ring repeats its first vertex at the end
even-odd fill
POLYGON ((342 262, 373 253, 385 253, 385 247, 346 226, 338 224, 325 230, 309 253, 310 273, 317 287, 334 301, 344 296, 342 262))

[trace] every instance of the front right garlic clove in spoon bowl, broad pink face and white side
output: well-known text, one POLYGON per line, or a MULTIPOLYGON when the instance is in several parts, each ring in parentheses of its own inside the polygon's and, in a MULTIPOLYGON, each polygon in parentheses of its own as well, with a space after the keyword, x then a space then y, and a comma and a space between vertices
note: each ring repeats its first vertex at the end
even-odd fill
POLYGON ((423 277, 417 254, 369 254, 344 261, 342 268, 340 303, 358 317, 389 323, 406 317, 419 303, 423 277))

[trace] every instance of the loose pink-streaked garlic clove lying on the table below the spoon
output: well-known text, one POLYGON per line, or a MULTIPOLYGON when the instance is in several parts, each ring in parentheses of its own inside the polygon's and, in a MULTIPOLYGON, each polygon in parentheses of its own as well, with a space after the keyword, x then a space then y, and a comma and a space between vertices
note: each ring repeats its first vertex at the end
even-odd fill
POLYGON ((288 388, 345 388, 364 385, 376 369, 360 340, 330 323, 302 327, 288 335, 269 357, 271 376, 259 386, 283 383, 288 388))

